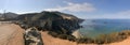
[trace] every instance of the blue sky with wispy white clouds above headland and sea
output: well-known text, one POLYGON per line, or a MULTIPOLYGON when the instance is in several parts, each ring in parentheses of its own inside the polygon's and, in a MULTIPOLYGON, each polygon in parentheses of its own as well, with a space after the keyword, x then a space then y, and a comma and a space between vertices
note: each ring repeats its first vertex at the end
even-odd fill
POLYGON ((130 0, 0 0, 0 13, 60 11, 84 19, 130 19, 130 0))

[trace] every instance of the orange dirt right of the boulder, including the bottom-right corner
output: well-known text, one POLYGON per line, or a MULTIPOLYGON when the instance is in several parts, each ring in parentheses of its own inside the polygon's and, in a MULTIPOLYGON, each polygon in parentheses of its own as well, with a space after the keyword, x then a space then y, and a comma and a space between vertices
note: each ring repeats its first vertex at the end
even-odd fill
MULTIPOLYGON (((49 35, 48 32, 41 32, 41 34, 42 34, 42 40, 44 45, 98 45, 98 44, 77 44, 76 42, 53 38, 49 35)), ((121 42, 115 42, 115 43, 103 44, 103 45, 130 45, 130 38, 121 42)))

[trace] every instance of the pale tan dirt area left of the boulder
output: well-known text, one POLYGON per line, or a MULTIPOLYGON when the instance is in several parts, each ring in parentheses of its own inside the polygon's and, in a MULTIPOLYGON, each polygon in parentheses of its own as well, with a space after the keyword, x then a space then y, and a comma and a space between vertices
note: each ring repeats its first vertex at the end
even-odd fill
POLYGON ((17 25, 0 25, 0 45, 24 45, 23 32, 17 25))

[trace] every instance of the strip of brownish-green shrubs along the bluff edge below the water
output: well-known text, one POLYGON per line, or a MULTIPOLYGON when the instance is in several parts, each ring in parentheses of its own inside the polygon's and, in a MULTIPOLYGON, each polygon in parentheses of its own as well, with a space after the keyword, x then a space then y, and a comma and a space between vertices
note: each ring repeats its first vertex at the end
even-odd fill
POLYGON ((78 39, 77 43, 95 43, 95 44, 107 44, 114 42, 123 41, 130 36, 130 30, 125 30, 121 32, 113 32, 109 34, 101 34, 96 39, 81 38, 78 39))

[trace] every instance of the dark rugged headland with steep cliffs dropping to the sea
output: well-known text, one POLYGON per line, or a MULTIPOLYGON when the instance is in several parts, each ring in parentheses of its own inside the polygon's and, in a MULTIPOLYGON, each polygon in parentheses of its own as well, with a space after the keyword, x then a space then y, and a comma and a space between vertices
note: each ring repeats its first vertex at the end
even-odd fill
POLYGON ((75 39, 72 33, 81 28, 83 21, 74 15, 61 12, 41 12, 31 15, 18 16, 23 28, 37 27, 40 31, 49 31, 49 34, 61 39, 75 39))

